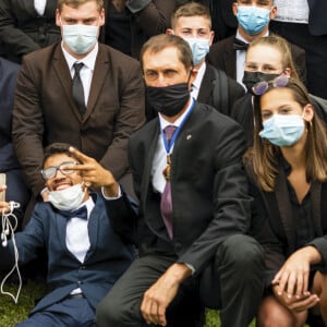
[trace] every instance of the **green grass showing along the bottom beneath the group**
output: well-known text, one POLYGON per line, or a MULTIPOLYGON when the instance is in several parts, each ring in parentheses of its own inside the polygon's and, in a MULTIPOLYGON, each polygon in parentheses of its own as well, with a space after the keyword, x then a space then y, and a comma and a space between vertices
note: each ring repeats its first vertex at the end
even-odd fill
MULTIPOLYGON (((4 291, 11 291, 15 294, 17 287, 5 286, 4 291)), ((35 281, 28 281, 23 284, 19 303, 15 304, 8 295, 0 295, 0 326, 12 327, 25 319, 28 312, 34 306, 34 300, 46 293, 45 284, 35 281)), ((219 327, 219 317, 216 311, 208 311, 205 327, 219 327)), ((251 327, 254 327, 254 323, 251 327)), ((186 327, 186 326, 185 326, 186 327)))

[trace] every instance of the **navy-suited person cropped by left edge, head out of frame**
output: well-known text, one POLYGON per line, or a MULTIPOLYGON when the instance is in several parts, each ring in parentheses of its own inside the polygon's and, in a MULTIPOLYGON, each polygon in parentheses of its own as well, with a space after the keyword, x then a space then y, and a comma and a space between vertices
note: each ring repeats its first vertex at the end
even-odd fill
POLYGON ((7 178, 7 199, 19 202, 16 210, 19 227, 29 198, 21 166, 17 161, 11 136, 12 108, 20 65, 0 57, 0 172, 7 178))

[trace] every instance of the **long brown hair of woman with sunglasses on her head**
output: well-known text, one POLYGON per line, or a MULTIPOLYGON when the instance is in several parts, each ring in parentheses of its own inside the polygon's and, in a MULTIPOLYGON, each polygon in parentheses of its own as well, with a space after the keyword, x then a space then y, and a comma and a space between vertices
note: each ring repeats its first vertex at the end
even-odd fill
MULTIPOLYGON (((274 87, 274 84, 269 82, 267 92, 274 87)), ((289 78, 288 84, 283 87, 291 90, 293 99, 302 108, 311 104, 307 90, 300 81, 289 78)), ((258 135, 259 131, 263 130, 261 97, 262 96, 255 96, 254 98, 254 145, 244 155, 244 160, 246 164, 252 165, 258 185, 267 192, 272 192, 279 169, 278 157, 280 155, 280 148, 258 135)), ((314 114, 312 122, 307 123, 306 128, 306 180, 325 182, 327 181, 326 126, 318 116, 314 114)))

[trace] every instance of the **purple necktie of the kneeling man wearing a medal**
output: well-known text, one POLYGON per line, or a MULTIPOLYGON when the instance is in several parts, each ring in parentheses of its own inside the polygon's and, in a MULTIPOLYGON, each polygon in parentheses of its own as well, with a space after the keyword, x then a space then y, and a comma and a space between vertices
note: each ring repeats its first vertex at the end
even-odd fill
MULTIPOLYGON (((168 125, 165 128, 165 136, 167 138, 168 146, 170 145, 170 141, 175 132, 177 126, 168 125)), ((170 189, 170 154, 167 154, 167 166, 164 170, 164 175, 166 179, 166 185, 161 195, 160 202, 160 210, 162 220, 165 222, 168 235, 172 239, 172 202, 171 202, 171 189, 170 189)))

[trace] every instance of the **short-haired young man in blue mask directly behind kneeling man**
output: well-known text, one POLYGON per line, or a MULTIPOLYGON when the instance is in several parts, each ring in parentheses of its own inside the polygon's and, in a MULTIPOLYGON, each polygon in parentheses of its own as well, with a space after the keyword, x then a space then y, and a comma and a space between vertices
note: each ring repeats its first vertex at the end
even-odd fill
POLYGON ((179 7, 171 17, 171 28, 167 29, 167 33, 184 38, 192 49, 194 68, 197 70, 197 76, 192 85, 192 96, 199 102, 210 105, 218 111, 229 114, 233 104, 244 95, 244 89, 230 77, 216 81, 218 78, 216 69, 205 62, 215 34, 211 31, 209 9, 196 2, 179 7), (218 86, 216 83, 225 85, 218 86), (219 94, 220 97, 228 97, 226 102, 216 99, 217 87, 226 90, 226 94, 219 94))

